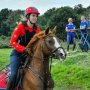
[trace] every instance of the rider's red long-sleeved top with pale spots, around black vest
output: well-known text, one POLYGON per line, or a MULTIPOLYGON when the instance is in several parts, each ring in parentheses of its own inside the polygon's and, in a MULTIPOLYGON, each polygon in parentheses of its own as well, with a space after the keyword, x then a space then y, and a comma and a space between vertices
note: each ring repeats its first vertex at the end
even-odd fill
MULTIPOLYGON (((14 29, 11 40, 10 40, 10 45, 13 46, 18 52, 23 53, 25 50, 24 45, 20 45, 17 40, 20 36, 25 35, 25 30, 28 30, 29 32, 33 32, 33 28, 30 28, 28 26, 24 26, 23 24, 17 25, 17 27, 14 29)), ((39 33, 41 30, 39 27, 36 29, 36 33, 39 33)))

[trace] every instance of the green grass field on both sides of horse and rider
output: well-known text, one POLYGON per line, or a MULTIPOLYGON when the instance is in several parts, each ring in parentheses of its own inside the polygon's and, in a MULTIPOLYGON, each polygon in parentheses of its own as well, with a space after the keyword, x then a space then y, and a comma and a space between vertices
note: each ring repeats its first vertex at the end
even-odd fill
MULTIPOLYGON (((0 68, 9 63, 12 49, 0 49, 0 68)), ((70 51, 65 61, 53 59, 54 90, 90 90, 90 52, 70 51)))

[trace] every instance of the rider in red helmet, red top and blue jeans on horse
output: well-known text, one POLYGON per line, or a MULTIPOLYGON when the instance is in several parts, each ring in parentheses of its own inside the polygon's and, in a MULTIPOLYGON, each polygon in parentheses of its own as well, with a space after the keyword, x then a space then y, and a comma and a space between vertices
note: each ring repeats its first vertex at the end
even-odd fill
POLYGON ((26 22, 18 24, 12 33, 10 45, 14 47, 14 50, 10 55, 11 76, 7 84, 7 90, 15 89, 16 76, 22 61, 19 57, 23 53, 28 53, 28 49, 25 48, 26 45, 35 33, 39 33, 41 31, 40 28, 36 26, 39 14, 40 13, 35 7, 28 7, 25 11, 26 22))

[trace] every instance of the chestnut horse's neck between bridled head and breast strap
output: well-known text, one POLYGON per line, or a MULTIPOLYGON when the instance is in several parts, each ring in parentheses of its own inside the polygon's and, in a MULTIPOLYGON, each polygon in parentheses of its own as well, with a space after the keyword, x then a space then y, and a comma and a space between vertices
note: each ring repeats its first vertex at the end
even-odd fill
POLYGON ((44 56, 42 48, 41 48, 41 42, 37 44, 37 49, 34 51, 34 55, 32 57, 31 66, 37 70, 38 72, 42 74, 48 74, 49 72, 49 60, 47 56, 44 56), (46 60, 45 57, 47 58, 46 60))

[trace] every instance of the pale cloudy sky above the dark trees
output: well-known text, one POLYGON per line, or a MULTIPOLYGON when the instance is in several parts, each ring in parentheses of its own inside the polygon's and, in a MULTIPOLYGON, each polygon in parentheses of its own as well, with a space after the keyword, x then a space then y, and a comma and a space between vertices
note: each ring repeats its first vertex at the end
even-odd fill
POLYGON ((78 4, 87 7, 90 5, 90 0, 2 0, 0 2, 0 10, 4 8, 25 10, 29 6, 34 6, 41 14, 43 14, 45 11, 53 7, 74 7, 78 4))

